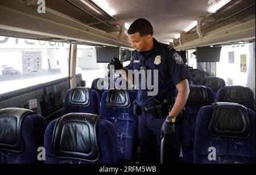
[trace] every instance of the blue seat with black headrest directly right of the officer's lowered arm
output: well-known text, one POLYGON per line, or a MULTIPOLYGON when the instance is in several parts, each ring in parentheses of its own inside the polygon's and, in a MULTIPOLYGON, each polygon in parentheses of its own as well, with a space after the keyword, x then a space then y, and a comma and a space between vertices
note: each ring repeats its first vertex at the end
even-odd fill
POLYGON ((185 104, 186 116, 181 126, 181 146, 183 163, 193 163, 193 141, 195 136, 196 115, 203 106, 214 102, 213 91, 205 86, 190 86, 187 103, 185 104))

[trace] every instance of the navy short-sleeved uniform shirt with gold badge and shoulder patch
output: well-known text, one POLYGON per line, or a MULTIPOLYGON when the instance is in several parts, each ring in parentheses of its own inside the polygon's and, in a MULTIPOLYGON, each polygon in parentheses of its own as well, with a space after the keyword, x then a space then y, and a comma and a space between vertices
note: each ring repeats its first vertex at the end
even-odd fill
MULTIPOLYGON (((154 47, 151 52, 145 54, 135 50, 133 58, 126 70, 140 70, 141 66, 146 66, 147 70, 151 70, 151 84, 154 83, 154 70, 158 70, 158 94, 155 99, 163 101, 168 97, 175 95, 176 85, 189 78, 189 74, 185 69, 184 63, 180 55, 174 48, 166 44, 162 44, 154 39, 154 47)), ((136 78, 135 78, 136 80, 136 78)), ((148 80, 147 80, 148 81, 148 80)), ((150 81, 148 81, 150 82, 150 81)), ((148 90, 141 89, 141 78, 139 78, 137 104, 148 107, 157 104, 152 96, 148 96, 148 90)))

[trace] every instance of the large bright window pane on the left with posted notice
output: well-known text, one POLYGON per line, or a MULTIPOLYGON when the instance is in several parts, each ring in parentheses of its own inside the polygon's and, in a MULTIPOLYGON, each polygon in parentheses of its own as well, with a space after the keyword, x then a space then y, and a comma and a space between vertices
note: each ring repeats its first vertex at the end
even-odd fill
POLYGON ((69 44, 0 38, 0 94, 68 76, 69 44))

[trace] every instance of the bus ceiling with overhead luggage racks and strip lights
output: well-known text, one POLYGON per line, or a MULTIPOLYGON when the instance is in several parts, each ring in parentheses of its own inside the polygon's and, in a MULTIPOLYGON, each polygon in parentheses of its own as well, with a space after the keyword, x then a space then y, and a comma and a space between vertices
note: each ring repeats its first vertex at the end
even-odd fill
POLYGON ((130 48, 127 28, 146 18, 158 41, 179 50, 255 39, 255 0, 45 0, 43 12, 38 2, 1 0, 0 35, 130 48))

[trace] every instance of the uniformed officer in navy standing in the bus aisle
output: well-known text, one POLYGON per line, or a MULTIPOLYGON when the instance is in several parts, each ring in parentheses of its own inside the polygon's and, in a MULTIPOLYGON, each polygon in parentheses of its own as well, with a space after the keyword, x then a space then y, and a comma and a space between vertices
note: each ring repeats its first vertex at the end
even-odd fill
MULTIPOLYGON (((176 126, 176 117, 183 109, 189 95, 189 74, 184 67, 183 59, 175 49, 156 41, 153 28, 146 19, 137 19, 127 31, 131 46, 135 50, 130 65, 123 67, 119 59, 112 59, 110 65, 119 70, 123 78, 129 83, 139 84, 137 104, 141 106, 138 114, 138 135, 141 147, 142 163, 156 163, 160 161, 160 133, 167 134, 164 143, 164 163, 176 163, 180 154, 180 144, 177 131, 171 126, 176 126), (142 89, 141 78, 129 79, 127 70, 158 70, 158 94, 148 95, 150 90, 142 89), (177 96, 171 112, 168 113, 168 103, 165 101, 177 96)), ((153 72, 153 71, 152 71, 153 72)), ((153 74, 153 73, 152 73, 153 74)), ((154 76, 152 77, 152 81, 154 76)), ((152 82, 151 82, 152 83, 152 82)), ((170 100, 169 100, 170 101, 170 100)))

